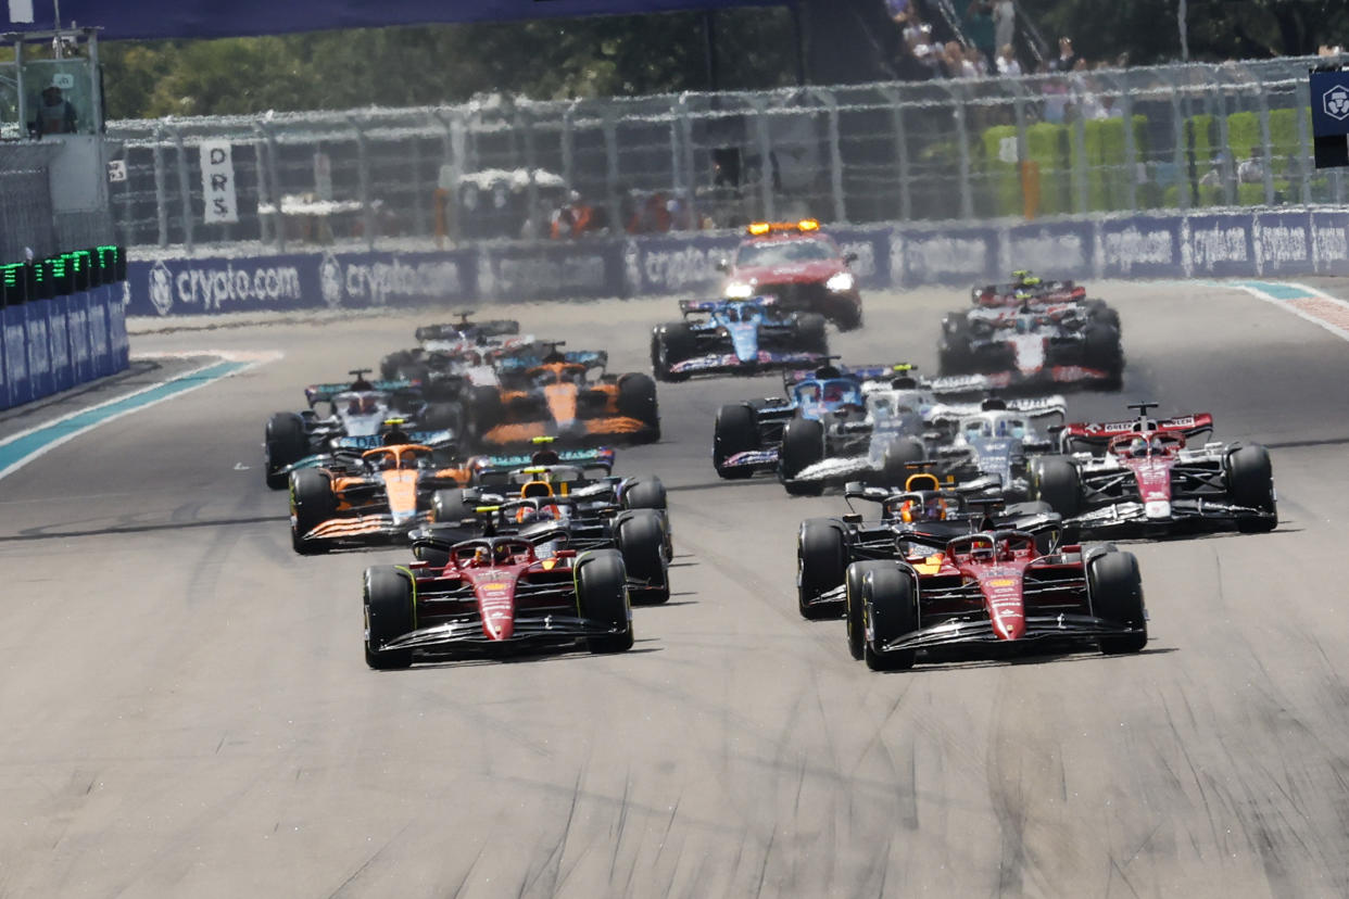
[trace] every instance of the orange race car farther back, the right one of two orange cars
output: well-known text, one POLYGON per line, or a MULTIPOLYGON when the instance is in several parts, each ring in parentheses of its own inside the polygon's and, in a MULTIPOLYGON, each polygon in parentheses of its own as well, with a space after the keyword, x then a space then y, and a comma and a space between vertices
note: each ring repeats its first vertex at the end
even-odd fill
POLYGON ((656 381, 607 375, 608 353, 557 350, 500 363, 500 387, 475 387, 469 416, 484 446, 650 443, 661 437, 656 381))

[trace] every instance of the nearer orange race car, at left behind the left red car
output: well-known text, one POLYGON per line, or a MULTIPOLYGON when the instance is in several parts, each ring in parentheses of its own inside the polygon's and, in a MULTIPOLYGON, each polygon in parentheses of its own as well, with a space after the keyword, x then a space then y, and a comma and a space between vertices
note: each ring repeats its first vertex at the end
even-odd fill
POLYGON ((432 520, 436 491, 465 487, 472 478, 452 446, 399 437, 390 431, 386 446, 339 449, 290 473, 290 532, 297 553, 407 540, 409 531, 432 520))

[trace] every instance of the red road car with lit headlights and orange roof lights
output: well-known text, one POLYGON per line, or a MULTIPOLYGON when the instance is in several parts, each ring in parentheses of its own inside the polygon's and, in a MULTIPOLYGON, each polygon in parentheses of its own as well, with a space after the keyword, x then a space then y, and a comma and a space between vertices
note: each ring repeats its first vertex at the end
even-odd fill
POLYGON ((849 271, 857 256, 822 233, 820 222, 755 221, 746 230, 734 259, 716 264, 726 272, 726 299, 772 295, 778 309, 819 313, 842 330, 862 326, 862 295, 849 271))

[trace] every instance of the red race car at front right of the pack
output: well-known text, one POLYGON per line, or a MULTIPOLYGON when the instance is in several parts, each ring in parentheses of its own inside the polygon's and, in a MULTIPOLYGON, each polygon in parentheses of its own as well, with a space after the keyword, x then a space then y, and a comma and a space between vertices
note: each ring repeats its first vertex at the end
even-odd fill
POLYGON ((913 542, 905 561, 854 562, 846 617, 849 651, 873 671, 911 669, 920 651, 946 647, 1089 643, 1109 655, 1148 643, 1132 553, 1070 545, 1041 554, 1033 534, 1016 530, 927 550, 913 542))

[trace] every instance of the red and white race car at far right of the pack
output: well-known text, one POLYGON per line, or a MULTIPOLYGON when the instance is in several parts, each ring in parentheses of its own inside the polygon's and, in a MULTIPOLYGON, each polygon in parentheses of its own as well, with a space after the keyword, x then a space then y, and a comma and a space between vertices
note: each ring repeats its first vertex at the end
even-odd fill
POLYGON ((1031 465, 1033 499, 1058 509, 1083 535, 1167 535, 1279 524, 1269 452, 1259 443, 1190 441, 1211 435, 1209 414, 1068 425, 1063 456, 1031 465))

